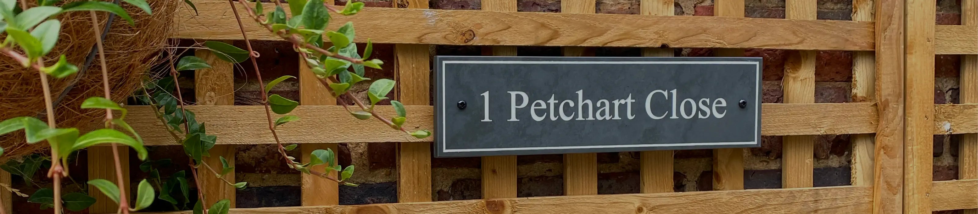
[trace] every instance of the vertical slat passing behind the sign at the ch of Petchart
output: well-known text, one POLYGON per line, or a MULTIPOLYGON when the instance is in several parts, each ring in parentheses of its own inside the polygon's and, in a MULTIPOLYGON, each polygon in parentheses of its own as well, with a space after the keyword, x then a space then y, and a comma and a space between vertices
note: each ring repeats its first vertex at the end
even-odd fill
MULTIPOLYGON (((594 14, 595 0, 560 1, 560 13, 594 14)), ((582 57, 584 47, 564 47, 563 56, 582 57)), ((563 193, 567 195, 598 194, 598 153, 563 154, 563 193)))

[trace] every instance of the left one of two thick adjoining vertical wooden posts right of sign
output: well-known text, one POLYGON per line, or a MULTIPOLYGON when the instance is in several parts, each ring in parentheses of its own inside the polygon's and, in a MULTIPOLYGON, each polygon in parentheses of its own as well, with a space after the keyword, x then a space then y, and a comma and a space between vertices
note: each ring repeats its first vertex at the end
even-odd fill
POLYGON ((903 213, 904 0, 874 0, 876 127, 872 213, 903 213))

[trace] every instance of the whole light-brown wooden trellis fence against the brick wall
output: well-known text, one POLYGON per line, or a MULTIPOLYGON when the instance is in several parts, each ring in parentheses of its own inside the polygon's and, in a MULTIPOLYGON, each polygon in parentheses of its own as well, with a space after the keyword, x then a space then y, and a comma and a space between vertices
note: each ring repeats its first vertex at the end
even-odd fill
MULTIPOLYGON (((302 206, 236 208, 232 213, 929 213, 978 208, 976 0, 961 0, 963 25, 936 25, 933 0, 856 0, 853 21, 816 20, 816 0, 787 0, 787 19, 743 18, 743 0, 715 0, 716 17, 672 16, 673 0, 642 0, 642 15, 594 14, 595 0, 562 0, 562 13, 515 12, 516 0, 483 0, 483 11, 425 10, 427 0, 396 2, 407 9, 367 8, 331 22, 354 21, 359 40, 396 44, 396 62, 391 64, 399 83, 397 97, 411 112, 407 125, 429 130, 434 121, 428 103, 429 45, 487 45, 496 56, 515 56, 512 46, 576 46, 565 47, 565 56, 582 56, 583 46, 645 47, 648 57, 672 57, 670 47, 722 48, 718 55, 730 57, 742 56, 745 48, 798 50, 785 64, 784 104, 764 104, 762 112, 763 135, 785 136, 784 189, 743 190, 743 150, 723 149, 713 152, 716 191, 669 193, 672 151, 660 150, 642 152, 642 193, 596 195, 596 154, 578 153, 564 154, 567 196, 516 198, 516 157, 511 155, 482 157, 485 199, 431 202, 432 139, 413 139, 327 106, 335 101, 303 71, 303 107, 292 111, 303 118, 295 122, 303 124, 280 133, 301 144, 303 153, 335 150, 335 143, 399 142, 399 203, 333 205, 338 203, 335 184, 303 177, 302 206), (855 51, 852 93, 858 103, 814 104, 819 50, 855 51), (967 104, 934 105, 935 55, 965 55, 960 95, 967 104), (813 136, 824 134, 854 135, 852 186, 813 188, 813 136), (932 182, 935 134, 966 134, 960 143, 961 180, 932 182)), ((226 1, 195 3, 200 15, 180 12, 174 37, 242 39, 226 1)), ((278 39, 255 24, 245 25, 249 38, 278 39)), ((192 107, 200 121, 207 121, 208 133, 220 136, 211 152, 230 157, 234 164, 235 145, 274 144, 270 133, 260 131, 267 125, 262 107, 212 107, 233 105, 230 96, 214 96, 233 93, 231 64, 204 52, 198 56, 215 64, 198 71, 200 106, 192 107)), ((131 107, 130 124, 148 145, 176 145, 151 110, 131 107)), ((97 163, 111 157, 98 153, 110 151, 88 152, 90 178, 111 180, 111 167, 92 167, 109 165, 97 163)), ((226 178, 233 180, 234 174, 226 178)), ((219 181, 204 184, 211 182, 219 181)), ((234 201, 233 188, 214 184, 203 191, 222 196, 209 198, 234 201)), ((92 213, 114 213, 114 205, 105 202, 111 200, 101 198, 92 213)))

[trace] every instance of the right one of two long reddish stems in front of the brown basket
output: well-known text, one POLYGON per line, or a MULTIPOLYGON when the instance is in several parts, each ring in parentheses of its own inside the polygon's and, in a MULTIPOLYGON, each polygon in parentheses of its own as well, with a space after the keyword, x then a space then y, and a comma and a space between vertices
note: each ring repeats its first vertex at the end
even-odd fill
MULTIPOLYGON (((111 90, 109 88, 109 70, 106 65, 106 52, 102 47, 102 33, 99 32, 99 18, 96 16, 95 11, 89 11, 88 13, 92 17, 92 32, 95 33, 95 44, 99 49, 99 63, 102 64, 102 89, 106 96, 106 100, 112 100, 111 90)), ((109 27, 109 26, 106 26, 109 27)), ((112 128, 112 109, 106 108, 106 128, 112 128)), ((119 158, 118 145, 115 143, 111 144, 112 147, 112 161, 115 163, 115 184, 119 188, 119 208, 122 214, 129 214, 129 202, 128 196, 125 194, 125 180, 123 180, 122 175, 122 161, 119 158)))

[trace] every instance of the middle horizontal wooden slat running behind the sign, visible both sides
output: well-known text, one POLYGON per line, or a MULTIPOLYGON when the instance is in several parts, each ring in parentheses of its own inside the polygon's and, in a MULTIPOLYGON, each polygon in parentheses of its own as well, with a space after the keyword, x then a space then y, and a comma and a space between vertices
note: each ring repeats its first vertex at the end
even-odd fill
MULTIPOLYGON (((260 106, 190 106, 207 133, 218 136, 218 144, 274 144, 265 109, 260 106)), ((408 129, 433 130, 431 106, 408 106, 408 129)), ((876 129, 876 109, 870 103, 850 104, 764 104, 763 135, 863 134, 876 129)), ((378 107, 381 115, 393 115, 391 107, 378 107)), ((299 106, 291 112, 298 121, 279 127, 288 144, 430 142, 394 131, 376 119, 359 120, 343 107, 299 106)), ((175 145, 150 107, 129 107, 126 121, 146 140, 146 145, 175 145)))

